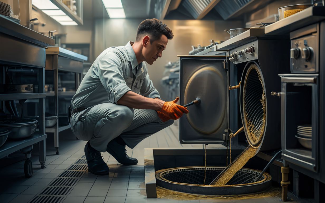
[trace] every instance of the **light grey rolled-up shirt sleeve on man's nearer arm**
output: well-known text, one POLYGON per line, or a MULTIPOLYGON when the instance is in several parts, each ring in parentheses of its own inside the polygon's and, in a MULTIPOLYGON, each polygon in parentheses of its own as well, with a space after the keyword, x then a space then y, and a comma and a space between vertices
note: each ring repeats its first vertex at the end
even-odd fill
POLYGON ((103 56, 98 65, 99 80, 108 93, 108 100, 115 104, 125 93, 131 91, 123 78, 125 65, 117 53, 103 56))

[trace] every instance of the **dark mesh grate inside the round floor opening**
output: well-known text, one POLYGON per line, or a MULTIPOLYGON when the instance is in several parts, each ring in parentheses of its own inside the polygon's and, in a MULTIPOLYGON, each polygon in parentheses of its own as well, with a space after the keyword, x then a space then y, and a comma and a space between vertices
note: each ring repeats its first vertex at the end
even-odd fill
MULTIPOLYGON (((207 167, 205 184, 209 184, 221 173, 221 167, 207 167)), ((248 184, 255 181, 259 172, 240 169, 226 185, 248 184)), ((160 176, 171 182, 202 185, 204 182, 204 167, 179 168, 162 172, 160 176)), ((264 180, 262 176, 259 181, 264 180)))

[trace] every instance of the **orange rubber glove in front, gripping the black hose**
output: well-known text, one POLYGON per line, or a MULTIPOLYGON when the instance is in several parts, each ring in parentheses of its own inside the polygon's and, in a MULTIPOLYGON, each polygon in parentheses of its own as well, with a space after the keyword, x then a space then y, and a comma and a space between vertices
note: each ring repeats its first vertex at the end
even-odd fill
POLYGON ((182 117, 184 113, 188 113, 187 107, 176 104, 178 99, 179 97, 176 97, 174 101, 165 102, 160 111, 173 120, 177 120, 182 117))

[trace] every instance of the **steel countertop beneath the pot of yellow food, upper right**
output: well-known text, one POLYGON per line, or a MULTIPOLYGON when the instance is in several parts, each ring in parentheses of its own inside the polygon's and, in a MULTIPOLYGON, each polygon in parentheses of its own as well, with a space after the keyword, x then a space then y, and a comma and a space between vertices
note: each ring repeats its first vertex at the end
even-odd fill
POLYGON ((309 7, 292 16, 265 26, 266 35, 289 35, 290 32, 325 19, 325 7, 309 7))

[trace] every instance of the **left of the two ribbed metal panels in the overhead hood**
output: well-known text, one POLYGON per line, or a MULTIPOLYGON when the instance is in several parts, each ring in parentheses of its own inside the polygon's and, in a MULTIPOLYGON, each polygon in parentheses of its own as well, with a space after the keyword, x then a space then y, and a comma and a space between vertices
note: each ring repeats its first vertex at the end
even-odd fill
POLYGON ((182 5, 195 19, 202 19, 220 0, 184 0, 182 5))

